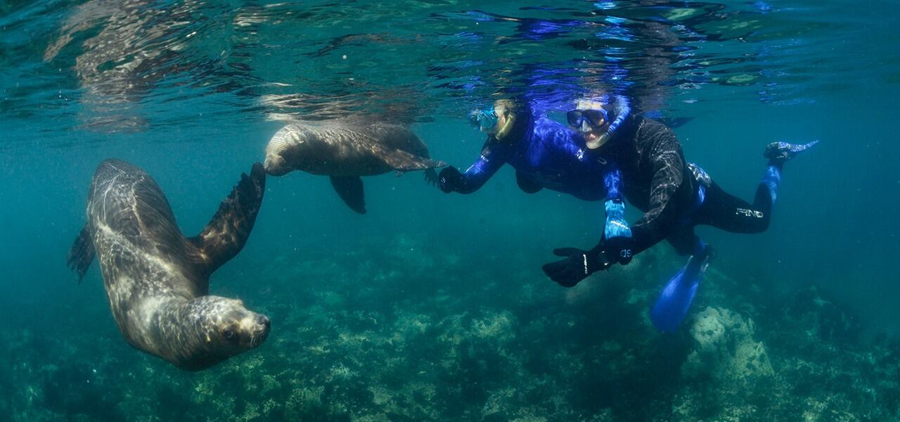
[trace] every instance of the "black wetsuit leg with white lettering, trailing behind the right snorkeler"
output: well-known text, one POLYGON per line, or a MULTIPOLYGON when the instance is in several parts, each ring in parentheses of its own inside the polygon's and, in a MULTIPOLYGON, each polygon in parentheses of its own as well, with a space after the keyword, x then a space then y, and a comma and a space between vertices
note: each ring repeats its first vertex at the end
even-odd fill
POLYGON ((761 233, 769 229, 772 196, 770 186, 761 183, 753 203, 749 203, 726 193, 713 182, 707 188, 703 205, 694 214, 694 223, 734 233, 761 233))

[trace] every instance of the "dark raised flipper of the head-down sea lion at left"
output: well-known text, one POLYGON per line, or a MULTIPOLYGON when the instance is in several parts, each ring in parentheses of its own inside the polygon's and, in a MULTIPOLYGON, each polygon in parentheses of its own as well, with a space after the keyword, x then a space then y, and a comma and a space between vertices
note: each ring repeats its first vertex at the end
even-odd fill
POLYGON ((266 170, 263 165, 254 163, 250 175, 240 175, 240 182, 220 203, 219 211, 212 216, 200 236, 189 239, 197 248, 194 261, 201 266, 201 274, 209 276, 238 255, 257 221, 264 193, 266 170))

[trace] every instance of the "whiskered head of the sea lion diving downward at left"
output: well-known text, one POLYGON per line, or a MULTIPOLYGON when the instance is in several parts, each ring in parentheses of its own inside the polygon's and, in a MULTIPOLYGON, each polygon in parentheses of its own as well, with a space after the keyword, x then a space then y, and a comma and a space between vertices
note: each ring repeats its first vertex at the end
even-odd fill
POLYGON ((262 345, 271 326, 265 315, 244 307, 244 302, 202 296, 190 302, 182 336, 176 337, 169 360, 186 370, 199 371, 262 345), (180 343, 180 344, 179 344, 180 343))

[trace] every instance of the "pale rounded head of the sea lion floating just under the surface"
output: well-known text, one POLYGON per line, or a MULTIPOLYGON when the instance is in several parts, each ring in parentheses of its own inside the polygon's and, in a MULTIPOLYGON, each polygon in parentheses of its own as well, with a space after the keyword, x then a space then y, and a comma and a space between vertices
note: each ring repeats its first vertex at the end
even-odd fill
POLYGON ((266 173, 286 175, 322 161, 324 131, 306 124, 289 124, 275 133, 266 146, 266 173))

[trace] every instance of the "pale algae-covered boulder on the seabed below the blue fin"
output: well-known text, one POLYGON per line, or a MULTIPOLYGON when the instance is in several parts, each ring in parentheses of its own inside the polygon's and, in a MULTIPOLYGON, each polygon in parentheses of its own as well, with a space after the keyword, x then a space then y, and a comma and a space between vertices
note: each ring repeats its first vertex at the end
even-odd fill
POLYGON ((694 351, 681 366, 686 378, 751 382, 774 374, 766 347, 754 337, 752 319, 721 308, 700 312, 690 335, 694 351))

